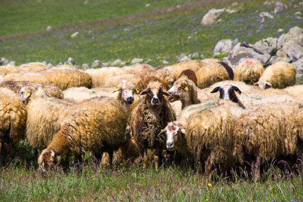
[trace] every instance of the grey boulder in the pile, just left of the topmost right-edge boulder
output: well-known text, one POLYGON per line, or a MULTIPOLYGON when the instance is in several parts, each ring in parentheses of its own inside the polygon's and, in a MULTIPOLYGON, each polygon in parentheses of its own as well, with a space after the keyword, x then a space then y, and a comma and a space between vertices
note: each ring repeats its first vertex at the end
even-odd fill
POLYGON ((277 38, 268 37, 252 45, 257 53, 273 55, 277 51, 277 38))

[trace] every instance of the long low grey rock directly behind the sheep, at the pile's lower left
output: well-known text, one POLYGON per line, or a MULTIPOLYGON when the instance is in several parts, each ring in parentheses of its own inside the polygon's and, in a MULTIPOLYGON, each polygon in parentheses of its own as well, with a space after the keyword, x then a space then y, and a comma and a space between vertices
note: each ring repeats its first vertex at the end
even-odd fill
POLYGON ((259 60, 263 65, 267 63, 270 59, 269 54, 259 54, 254 51, 253 48, 240 46, 241 43, 235 45, 235 47, 229 52, 228 60, 232 65, 237 65, 238 61, 242 58, 255 58, 259 60))

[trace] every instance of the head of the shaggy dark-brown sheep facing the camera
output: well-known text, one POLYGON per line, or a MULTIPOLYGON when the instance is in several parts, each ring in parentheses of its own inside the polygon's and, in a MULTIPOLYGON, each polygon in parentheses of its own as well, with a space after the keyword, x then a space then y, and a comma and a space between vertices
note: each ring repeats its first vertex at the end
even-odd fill
POLYGON ((150 81, 147 85, 147 88, 144 89, 140 94, 146 94, 146 104, 151 107, 162 106, 162 102, 164 99, 163 95, 170 95, 168 92, 163 90, 162 86, 158 81, 150 81))

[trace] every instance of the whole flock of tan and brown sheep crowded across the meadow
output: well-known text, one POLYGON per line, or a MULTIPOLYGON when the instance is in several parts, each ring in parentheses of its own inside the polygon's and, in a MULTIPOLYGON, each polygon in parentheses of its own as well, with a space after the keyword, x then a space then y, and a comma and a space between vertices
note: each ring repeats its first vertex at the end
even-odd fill
POLYGON ((86 152, 110 165, 154 161, 158 170, 177 154, 208 178, 215 169, 258 173, 274 159, 295 164, 303 158, 295 73, 292 64, 264 69, 255 59, 235 69, 217 59, 86 71, 0 66, 0 152, 26 138, 41 171, 86 152))

